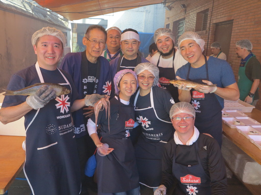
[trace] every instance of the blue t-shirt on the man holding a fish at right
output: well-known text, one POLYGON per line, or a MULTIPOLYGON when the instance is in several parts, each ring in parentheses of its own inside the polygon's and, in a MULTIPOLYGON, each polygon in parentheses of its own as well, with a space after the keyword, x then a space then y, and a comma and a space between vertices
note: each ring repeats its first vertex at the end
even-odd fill
MULTIPOLYGON (((218 87, 227 87, 236 82, 232 68, 225 60, 218 59, 216 57, 210 56, 207 60, 209 81, 213 84, 217 84, 218 87)), ((177 69, 176 76, 181 77, 181 79, 187 78, 189 63, 177 69)), ((190 68, 189 79, 206 79, 206 64, 199 68, 190 68)), ((224 99, 216 95, 218 102, 221 107, 224 108, 224 99)))

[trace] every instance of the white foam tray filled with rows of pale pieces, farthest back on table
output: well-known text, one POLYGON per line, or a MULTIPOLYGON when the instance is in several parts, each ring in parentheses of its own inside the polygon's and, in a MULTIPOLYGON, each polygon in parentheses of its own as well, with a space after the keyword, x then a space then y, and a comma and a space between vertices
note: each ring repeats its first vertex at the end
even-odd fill
POLYGON ((237 101, 224 100, 223 110, 239 110, 241 112, 252 112, 253 108, 255 107, 239 99, 237 101))

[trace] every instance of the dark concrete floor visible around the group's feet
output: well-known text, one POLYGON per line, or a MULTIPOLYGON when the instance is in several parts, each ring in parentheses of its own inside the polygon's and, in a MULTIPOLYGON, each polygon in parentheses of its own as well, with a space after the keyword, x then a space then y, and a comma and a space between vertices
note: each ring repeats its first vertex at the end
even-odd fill
MULTIPOLYGON (((21 171, 18 177, 25 178, 23 171, 21 171)), ((8 195, 31 195, 31 194, 32 194, 31 189, 26 180, 15 180, 8 190, 8 195)), ((141 186, 140 194, 153 195, 153 190, 151 188, 141 186)), ((238 195, 238 194, 251 195, 251 193, 247 190, 247 188, 235 176, 232 176, 231 179, 228 178, 228 195, 238 195)), ((94 193, 89 189, 89 195, 97 195, 97 193, 94 193)))

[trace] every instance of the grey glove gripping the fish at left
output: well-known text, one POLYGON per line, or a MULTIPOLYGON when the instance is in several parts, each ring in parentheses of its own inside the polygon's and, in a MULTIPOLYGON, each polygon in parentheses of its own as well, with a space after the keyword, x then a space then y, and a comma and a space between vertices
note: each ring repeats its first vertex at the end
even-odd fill
POLYGON ((26 103, 37 110, 44 107, 50 100, 56 98, 56 92, 53 88, 46 85, 40 87, 34 95, 30 95, 26 98, 26 103))

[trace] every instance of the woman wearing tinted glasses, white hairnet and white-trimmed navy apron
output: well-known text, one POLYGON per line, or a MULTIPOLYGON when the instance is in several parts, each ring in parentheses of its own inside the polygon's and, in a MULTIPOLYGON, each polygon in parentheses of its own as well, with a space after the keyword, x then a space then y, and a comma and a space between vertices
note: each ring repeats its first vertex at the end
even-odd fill
POLYGON ((174 133, 169 119, 174 100, 167 90, 157 86, 159 69, 156 65, 140 63, 134 71, 140 88, 132 97, 135 118, 142 130, 135 144, 139 181, 150 188, 157 188, 161 181, 163 147, 174 133))

